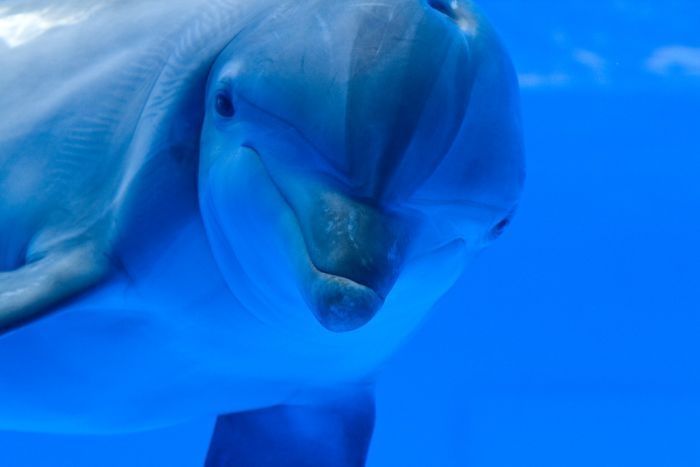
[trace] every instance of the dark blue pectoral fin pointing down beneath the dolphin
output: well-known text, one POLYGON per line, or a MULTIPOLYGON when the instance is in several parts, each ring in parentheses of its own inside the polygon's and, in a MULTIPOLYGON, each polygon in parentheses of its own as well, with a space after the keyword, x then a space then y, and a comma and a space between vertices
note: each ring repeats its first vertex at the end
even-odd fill
POLYGON ((222 415, 205 467, 361 467, 374 428, 367 389, 304 405, 222 415))

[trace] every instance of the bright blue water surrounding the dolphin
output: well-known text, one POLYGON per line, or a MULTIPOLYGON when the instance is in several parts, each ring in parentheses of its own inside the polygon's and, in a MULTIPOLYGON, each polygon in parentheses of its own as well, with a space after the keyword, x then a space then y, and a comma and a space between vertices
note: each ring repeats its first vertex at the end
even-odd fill
MULTIPOLYGON (((381 373, 368 465, 700 466, 700 4, 479 5, 519 73, 526 190, 381 373)), ((213 421, 0 433, 0 466, 198 466, 213 421)))

